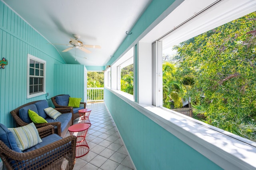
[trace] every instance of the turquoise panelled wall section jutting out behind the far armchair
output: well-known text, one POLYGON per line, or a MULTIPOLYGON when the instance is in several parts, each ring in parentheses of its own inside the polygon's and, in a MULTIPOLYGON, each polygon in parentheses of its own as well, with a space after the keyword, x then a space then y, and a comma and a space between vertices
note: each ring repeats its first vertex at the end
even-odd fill
POLYGON ((69 94, 72 98, 84 99, 84 65, 56 64, 54 67, 54 96, 69 94))

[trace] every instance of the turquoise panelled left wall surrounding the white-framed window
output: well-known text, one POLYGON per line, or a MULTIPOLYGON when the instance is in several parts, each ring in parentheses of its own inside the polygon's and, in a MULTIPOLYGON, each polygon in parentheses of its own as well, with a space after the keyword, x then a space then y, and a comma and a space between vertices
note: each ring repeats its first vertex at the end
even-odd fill
POLYGON ((54 94, 54 64, 65 64, 58 51, 28 23, 0 1, 0 59, 8 65, 0 69, 0 123, 14 127, 10 111, 45 95, 27 99, 27 55, 46 61, 46 92, 54 94))

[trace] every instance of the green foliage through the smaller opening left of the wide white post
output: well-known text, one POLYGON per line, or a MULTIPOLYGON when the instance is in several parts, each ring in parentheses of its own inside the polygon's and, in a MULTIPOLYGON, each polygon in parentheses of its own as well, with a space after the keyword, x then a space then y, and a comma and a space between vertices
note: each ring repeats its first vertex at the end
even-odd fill
POLYGON ((121 91, 133 95, 133 64, 121 70, 121 91))

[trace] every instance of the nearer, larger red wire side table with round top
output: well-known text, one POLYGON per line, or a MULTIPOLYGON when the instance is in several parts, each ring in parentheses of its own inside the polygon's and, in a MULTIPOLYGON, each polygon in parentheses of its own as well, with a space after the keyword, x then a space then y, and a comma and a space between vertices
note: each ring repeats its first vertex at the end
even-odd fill
POLYGON ((85 140, 89 127, 88 123, 78 123, 68 128, 70 135, 76 136, 76 158, 84 156, 89 152, 89 146, 85 140))

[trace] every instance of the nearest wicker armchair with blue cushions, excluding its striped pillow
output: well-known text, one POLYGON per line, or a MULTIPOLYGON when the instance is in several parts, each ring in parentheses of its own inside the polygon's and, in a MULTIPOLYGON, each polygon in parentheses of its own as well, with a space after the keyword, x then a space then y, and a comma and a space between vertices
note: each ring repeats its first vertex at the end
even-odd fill
POLYGON ((41 143, 21 151, 13 133, 0 124, 0 158, 4 169, 72 170, 76 156, 76 137, 62 138, 54 134, 54 127, 48 125, 36 129, 41 143))

